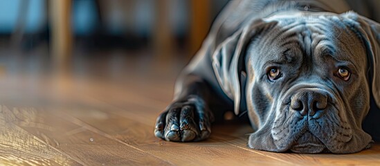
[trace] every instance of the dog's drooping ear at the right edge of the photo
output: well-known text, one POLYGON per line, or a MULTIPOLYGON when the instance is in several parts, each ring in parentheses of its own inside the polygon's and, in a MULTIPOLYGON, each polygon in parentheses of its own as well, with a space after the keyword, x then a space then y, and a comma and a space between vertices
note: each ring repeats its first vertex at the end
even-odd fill
POLYGON ((350 19, 351 26, 358 30, 367 51, 368 77, 374 102, 380 109, 380 24, 355 12, 347 12, 344 17, 350 19))

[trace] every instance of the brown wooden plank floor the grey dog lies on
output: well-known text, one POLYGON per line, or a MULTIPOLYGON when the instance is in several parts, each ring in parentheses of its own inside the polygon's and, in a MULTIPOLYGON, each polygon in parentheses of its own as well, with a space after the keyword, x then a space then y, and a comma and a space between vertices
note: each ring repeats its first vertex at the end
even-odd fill
POLYGON ((232 122, 213 126, 206 141, 160 140, 156 116, 184 63, 84 59, 60 74, 0 64, 0 165, 380 165, 379 143, 347 155, 249 149, 252 129, 232 122))

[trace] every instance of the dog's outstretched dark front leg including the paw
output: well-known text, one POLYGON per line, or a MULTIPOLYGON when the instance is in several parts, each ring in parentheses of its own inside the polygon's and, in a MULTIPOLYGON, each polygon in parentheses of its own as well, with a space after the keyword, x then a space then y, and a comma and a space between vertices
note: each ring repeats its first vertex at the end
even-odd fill
MULTIPOLYGON (((176 85, 174 102, 157 118, 156 137, 179 142, 204 140, 214 121, 209 104, 217 94, 199 75, 185 75, 176 85)), ((220 100, 219 100, 220 102, 220 100)))

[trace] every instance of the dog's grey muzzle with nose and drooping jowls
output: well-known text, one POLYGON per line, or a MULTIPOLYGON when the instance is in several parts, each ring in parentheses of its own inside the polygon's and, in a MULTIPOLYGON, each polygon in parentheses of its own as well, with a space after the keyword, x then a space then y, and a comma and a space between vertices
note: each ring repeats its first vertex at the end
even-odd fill
POLYGON ((350 125, 336 106, 337 96, 319 87, 289 89, 278 109, 272 135, 279 149, 301 153, 329 151, 330 142, 351 139, 350 125))

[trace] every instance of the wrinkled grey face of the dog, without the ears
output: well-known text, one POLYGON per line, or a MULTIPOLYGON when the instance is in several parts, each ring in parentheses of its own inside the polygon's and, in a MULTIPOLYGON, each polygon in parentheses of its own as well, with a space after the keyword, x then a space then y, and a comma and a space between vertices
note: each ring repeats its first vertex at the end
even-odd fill
POLYGON ((365 44, 336 16, 275 21, 246 51, 246 99, 258 127, 249 146, 302 153, 368 146, 365 44))

